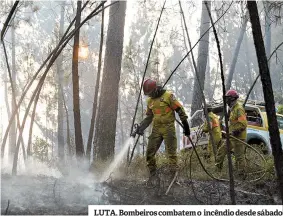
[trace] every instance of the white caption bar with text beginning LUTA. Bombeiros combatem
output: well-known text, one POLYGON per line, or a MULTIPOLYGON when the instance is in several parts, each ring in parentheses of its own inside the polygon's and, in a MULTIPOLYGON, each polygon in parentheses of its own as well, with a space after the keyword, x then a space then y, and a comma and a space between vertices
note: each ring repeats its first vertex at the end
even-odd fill
POLYGON ((280 205, 90 205, 89 216, 283 216, 280 205))

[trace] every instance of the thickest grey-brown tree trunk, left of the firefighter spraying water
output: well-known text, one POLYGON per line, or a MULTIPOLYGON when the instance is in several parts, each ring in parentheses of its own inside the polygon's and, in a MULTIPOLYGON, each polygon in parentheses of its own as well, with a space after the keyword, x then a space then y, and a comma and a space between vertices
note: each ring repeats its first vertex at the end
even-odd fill
POLYGON ((118 1, 109 11, 101 99, 94 138, 98 147, 97 157, 102 160, 114 156, 125 13, 125 1, 118 1))

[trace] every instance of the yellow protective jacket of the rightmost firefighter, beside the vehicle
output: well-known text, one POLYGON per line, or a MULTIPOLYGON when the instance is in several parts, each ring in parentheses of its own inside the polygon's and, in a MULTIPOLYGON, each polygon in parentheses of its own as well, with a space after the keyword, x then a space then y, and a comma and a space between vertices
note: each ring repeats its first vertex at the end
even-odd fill
POLYGON ((247 138, 247 118, 245 109, 239 102, 236 102, 229 111, 229 132, 238 131, 237 138, 245 140, 247 138))

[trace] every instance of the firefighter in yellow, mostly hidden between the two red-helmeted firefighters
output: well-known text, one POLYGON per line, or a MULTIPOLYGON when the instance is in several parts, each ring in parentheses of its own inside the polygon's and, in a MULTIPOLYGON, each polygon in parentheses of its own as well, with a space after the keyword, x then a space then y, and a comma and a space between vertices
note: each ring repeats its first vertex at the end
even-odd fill
MULTIPOLYGON (((209 138, 206 157, 210 158, 213 153, 212 144, 216 145, 216 150, 221 146, 222 134, 219 123, 219 118, 212 112, 212 105, 207 105, 208 120, 211 129, 212 137, 209 138), (213 140, 213 141, 212 141, 213 140)), ((207 121, 204 122, 202 132, 209 133, 209 127, 207 121)))

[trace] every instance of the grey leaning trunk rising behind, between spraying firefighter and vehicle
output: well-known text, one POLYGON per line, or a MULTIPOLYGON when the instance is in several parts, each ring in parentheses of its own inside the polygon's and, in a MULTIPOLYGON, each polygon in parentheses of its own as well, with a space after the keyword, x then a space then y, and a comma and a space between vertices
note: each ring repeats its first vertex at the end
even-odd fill
MULTIPOLYGON (((201 14, 201 24, 200 24, 200 37, 207 31, 209 26, 209 16, 207 9, 204 5, 206 1, 202 3, 202 14, 201 14)), ((210 7, 211 2, 207 1, 210 7)), ((198 109, 201 109, 201 91, 204 89, 205 81, 205 71, 208 57, 208 45, 209 45, 209 31, 204 35, 204 37, 199 42, 198 47, 198 59, 197 59, 197 73, 200 78, 200 83, 198 83, 197 78, 194 80, 194 89, 193 89, 193 99, 191 107, 191 115, 193 115, 198 109)), ((193 126, 196 122, 193 122, 193 126)))

